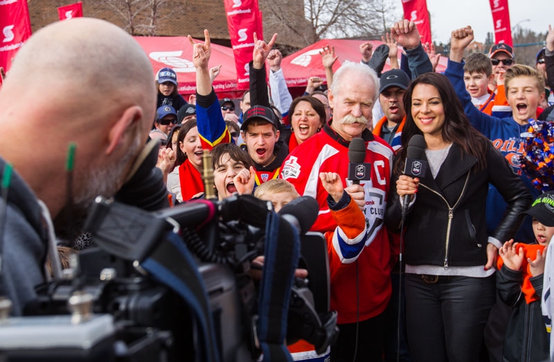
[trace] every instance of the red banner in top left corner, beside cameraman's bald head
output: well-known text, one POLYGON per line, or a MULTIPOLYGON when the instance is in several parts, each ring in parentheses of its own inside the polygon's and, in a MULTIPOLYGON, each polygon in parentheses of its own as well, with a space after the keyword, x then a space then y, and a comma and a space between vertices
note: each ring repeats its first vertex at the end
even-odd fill
POLYGON ((0 66, 7 72, 31 35, 27 0, 0 0, 0 30, 0 66))

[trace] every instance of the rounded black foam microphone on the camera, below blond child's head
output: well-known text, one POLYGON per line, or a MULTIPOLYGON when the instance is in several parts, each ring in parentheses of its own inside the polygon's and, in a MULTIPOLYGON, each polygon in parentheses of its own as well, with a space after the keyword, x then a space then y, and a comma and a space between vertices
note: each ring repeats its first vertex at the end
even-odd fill
POLYGON ((319 213, 319 204, 310 196, 295 198, 280 209, 278 214, 293 227, 300 235, 306 234, 316 222, 319 213))

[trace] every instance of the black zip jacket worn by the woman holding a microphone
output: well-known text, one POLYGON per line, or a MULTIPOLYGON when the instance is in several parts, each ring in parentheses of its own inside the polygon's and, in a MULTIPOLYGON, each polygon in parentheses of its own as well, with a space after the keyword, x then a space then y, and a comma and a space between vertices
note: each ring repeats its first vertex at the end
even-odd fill
MULTIPOLYGON (((427 166, 404 224, 406 264, 440 265, 445 269, 485 265, 485 200, 489 183, 508 203, 503 220, 491 236, 503 243, 515 235, 524 218, 521 211, 528 209, 532 197, 501 153, 490 142, 487 144, 484 170, 477 171, 476 158, 463 153, 457 144, 452 145, 436 179, 427 166)), ((396 232, 402 218, 396 193, 398 177, 393 175, 385 217, 388 229, 396 232)))

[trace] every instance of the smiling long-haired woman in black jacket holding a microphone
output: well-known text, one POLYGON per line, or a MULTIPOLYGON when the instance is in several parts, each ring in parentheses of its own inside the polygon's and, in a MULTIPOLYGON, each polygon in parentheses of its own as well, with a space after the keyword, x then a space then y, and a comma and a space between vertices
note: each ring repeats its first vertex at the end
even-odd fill
POLYGON ((402 144, 422 135, 427 144, 419 178, 403 175, 406 148, 393 169, 385 222, 404 222, 406 330, 413 361, 479 361, 483 329, 495 298, 492 267, 502 242, 517 231, 530 194, 505 158, 470 126, 452 84, 425 73, 404 95, 402 144), (489 184, 508 203, 487 235, 489 184), (394 191, 395 190, 395 191, 394 191), (415 197, 417 193, 417 197, 415 197))

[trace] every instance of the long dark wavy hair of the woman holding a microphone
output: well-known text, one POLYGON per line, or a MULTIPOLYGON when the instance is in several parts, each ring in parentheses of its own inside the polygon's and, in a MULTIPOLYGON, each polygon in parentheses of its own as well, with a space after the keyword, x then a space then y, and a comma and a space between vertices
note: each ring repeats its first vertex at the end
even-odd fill
POLYGON ((442 136, 446 142, 458 144, 464 153, 477 159, 477 169, 486 167, 486 151, 489 140, 472 127, 463 112, 462 104, 456 95, 454 87, 448 78, 440 73, 424 73, 413 79, 404 94, 404 109, 406 110, 406 124, 402 129, 401 142, 404 147, 400 150, 395 164, 395 172, 400 173, 406 160, 407 144, 413 135, 423 135, 422 131, 413 122, 411 115, 411 97, 413 89, 419 84, 428 84, 438 90, 445 111, 445 124, 442 136))

